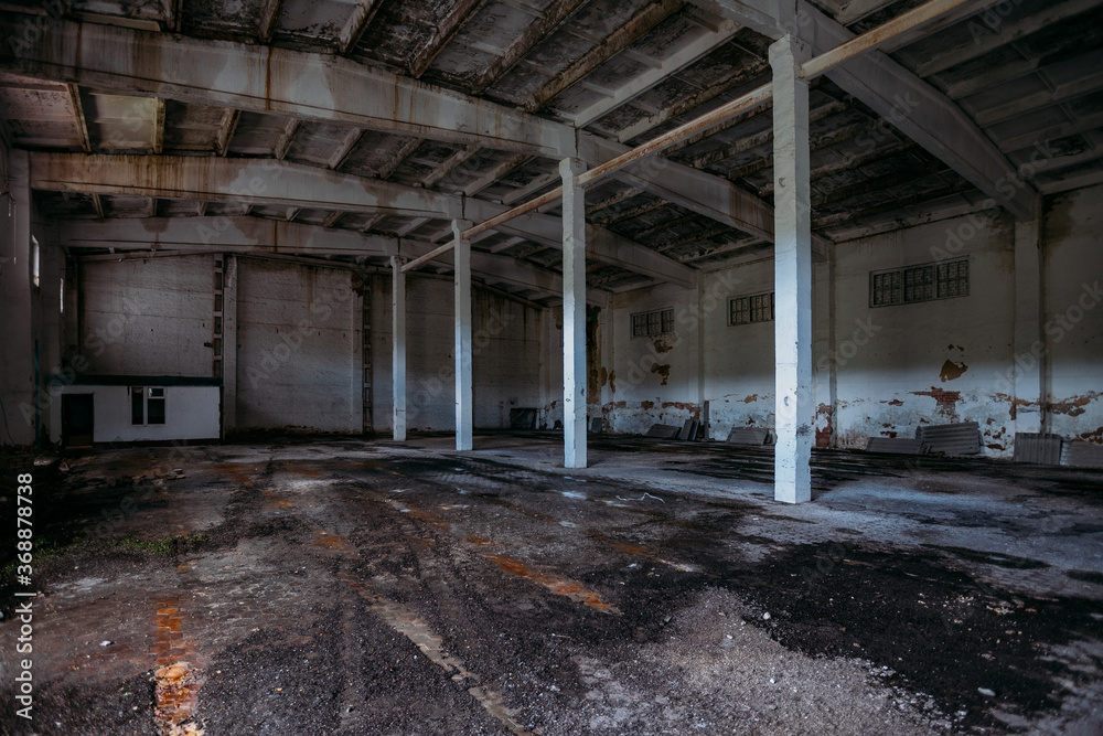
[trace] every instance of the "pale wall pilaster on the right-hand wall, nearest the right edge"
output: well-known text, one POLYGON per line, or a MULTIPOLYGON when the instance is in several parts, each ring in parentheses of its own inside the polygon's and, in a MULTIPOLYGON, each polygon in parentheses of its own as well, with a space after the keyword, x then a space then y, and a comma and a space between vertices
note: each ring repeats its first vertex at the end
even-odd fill
MULTIPOLYGON (((1045 431, 1046 343, 1042 337, 1039 222, 1015 223, 1015 431, 1045 431)), ((1005 393, 1000 391, 1000 393, 1005 393)))

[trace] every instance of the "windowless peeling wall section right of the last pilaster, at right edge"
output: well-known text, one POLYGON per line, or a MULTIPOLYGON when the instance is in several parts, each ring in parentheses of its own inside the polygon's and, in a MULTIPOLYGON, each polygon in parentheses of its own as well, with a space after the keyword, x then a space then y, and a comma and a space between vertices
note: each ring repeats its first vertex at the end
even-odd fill
POLYGON ((1103 186, 1047 202, 1048 429, 1103 444, 1103 186))

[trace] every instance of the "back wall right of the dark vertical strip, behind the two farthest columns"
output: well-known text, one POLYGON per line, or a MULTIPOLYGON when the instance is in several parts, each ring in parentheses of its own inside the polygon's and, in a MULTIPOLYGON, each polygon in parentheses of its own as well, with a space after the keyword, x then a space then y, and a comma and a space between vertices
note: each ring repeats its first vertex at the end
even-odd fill
MULTIPOLYGON (((410 430, 456 428, 456 358, 451 279, 411 275, 406 281, 406 422, 410 430)), ((511 408, 539 408, 544 312, 474 287, 471 298, 474 426, 510 426, 511 408)), ((372 278, 373 419, 392 427, 390 276, 372 278)), ((561 392, 560 392, 561 393, 561 392)))

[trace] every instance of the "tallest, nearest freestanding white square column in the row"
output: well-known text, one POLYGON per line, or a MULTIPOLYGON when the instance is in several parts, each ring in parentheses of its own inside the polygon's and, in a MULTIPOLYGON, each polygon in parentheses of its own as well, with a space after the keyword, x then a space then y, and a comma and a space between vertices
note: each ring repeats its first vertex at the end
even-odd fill
POLYGON ((808 171, 808 85, 799 76, 810 56, 785 36, 770 46, 773 67, 775 430, 773 494, 812 500, 808 462, 812 403, 812 221, 808 171))

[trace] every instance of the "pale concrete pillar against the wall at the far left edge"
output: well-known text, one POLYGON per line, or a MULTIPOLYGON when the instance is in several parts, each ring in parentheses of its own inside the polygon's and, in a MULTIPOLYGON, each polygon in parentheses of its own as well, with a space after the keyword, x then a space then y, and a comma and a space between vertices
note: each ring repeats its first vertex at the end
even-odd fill
MULTIPOLYGON (((2 146, 2 145, 0 145, 2 146)), ((8 156, 11 177, 9 196, 0 199, 2 249, 0 249, 0 402, 8 417, 0 445, 30 446, 34 442, 39 396, 34 385, 34 332, 31 301, 31 170, 26 151, 8 156)))

